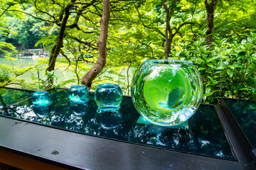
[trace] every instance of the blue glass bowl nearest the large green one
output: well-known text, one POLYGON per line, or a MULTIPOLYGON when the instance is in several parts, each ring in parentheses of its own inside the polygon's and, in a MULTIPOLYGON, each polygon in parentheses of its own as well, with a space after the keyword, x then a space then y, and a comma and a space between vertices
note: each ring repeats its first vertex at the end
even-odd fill
POLYGON ((100 84, 95 91, 95 102, 101 111, 119 110, 122 97, 122 89, 117 84, 100 84))

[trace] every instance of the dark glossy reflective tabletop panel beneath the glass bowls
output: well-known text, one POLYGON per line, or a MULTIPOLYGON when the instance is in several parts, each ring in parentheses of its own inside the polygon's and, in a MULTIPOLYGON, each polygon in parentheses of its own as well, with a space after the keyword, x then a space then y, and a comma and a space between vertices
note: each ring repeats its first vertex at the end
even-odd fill
POLYGON ((31 98, 28 98, 2 108, 0 114, 137 145, 235 159, 213 106, 202 104, 196 114, 188 120, 185 128, 166 128, 137 123, 140 115, 130 97, 124 96, 119 111, 103 112, 97 110, 93 93, 90 93, 87 105, 82 106, 70 103, 66 89, 53 89, 49 92, 53 105, 48 108, 34 108, 31 98), (83 115, 79 115, 81 113, 83 115))

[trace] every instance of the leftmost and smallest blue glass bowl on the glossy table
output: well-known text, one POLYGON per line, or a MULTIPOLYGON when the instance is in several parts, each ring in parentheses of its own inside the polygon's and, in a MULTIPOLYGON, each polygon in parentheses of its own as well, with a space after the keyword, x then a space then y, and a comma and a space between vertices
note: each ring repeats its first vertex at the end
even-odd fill
POLYGON ((48 91, 36 91, 32 95, 32 103, 35 107, 47 107, 51 105, 50 94, 48 91))

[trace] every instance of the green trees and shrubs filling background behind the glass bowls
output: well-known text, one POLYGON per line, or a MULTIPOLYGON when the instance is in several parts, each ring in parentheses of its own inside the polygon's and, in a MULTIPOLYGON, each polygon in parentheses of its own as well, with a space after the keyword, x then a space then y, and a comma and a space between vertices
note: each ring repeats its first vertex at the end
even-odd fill
POLYGON ((130 94, 139 64, 173 59, 193 62, 201 72, 203 103, 256 97, 256 1, 0 2, 2 56, 16 60, 14 56, 28 48, 49 52, 28 67, 1 64, 0 86, 37 90, 85 84, 94 90, 98 84, 114 82, 130 94), (75 77, 58 77, 56 84, 56 69, 74 72, 75 77), (20 78, 27 72, 33 84, 20 78))

